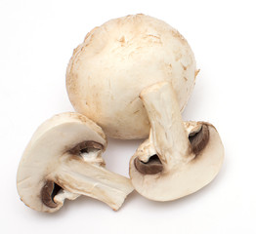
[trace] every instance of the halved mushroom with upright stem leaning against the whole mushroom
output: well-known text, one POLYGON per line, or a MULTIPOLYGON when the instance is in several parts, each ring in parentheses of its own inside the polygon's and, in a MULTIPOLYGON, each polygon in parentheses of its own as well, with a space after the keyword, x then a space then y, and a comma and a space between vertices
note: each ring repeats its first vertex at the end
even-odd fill
POLYGON ((134 188, 154 201, 192 194, 220 171, 224 148, 206 122, 183 122, 172 84, 156 83, 140 95, 150 121, 149 138, 130 160, 134 188))

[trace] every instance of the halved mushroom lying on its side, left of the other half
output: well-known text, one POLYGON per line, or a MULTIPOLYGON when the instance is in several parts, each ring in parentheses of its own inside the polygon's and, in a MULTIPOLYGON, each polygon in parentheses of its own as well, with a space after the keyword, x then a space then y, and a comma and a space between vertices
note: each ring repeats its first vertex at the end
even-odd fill
POLYGON ((17 187, 28 207, 53 213, 85 195, 118 210, 133 186, 129 178, 105 169, 102 129, 78 113, 63 113, 43 123, 21 158, 17 187))

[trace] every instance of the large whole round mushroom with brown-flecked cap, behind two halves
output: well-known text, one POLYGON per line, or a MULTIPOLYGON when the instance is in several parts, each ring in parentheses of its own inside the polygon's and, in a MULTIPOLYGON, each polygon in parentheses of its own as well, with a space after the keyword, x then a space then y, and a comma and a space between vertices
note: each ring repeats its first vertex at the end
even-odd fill
POLYGON ((156 82, 172 82, 182 111, 195 81, 187 40, 162 20, 142 14, 109 20, 89 32, 66 69, 74 109, 99 124, 107 136, 149 136, 149 118, 139 98, 156 82))

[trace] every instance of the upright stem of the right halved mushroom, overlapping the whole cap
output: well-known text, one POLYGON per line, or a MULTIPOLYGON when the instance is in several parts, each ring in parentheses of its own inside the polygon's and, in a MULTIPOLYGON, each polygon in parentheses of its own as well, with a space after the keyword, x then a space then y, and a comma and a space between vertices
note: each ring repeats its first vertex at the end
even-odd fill
POLYGON ((163 164, 176 165, 190 150, 176 93, 169 82, 159 82, 140 95, 149 116, 150 140, 163 164))

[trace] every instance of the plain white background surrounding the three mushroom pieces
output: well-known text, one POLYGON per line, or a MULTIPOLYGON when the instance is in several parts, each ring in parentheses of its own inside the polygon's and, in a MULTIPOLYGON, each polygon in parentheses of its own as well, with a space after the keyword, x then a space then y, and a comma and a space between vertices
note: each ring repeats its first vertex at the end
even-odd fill
MULTIPOLYGON (((0 0, 0 233, 256 233, 256 7, 254 1, 0 0), (72 111, 65 68, 94 26, 130 14, 165 20, 189 41, 200 73, 183 113, 211 122, 226 149, 210 185, 175 202, 133 192, 113 212, 91 198, 56 214, 25 207, 16 189, 22 151, 36 128, 72 111)), ((140 140, 108 139, 107 169, 128 176, 140 140)))

